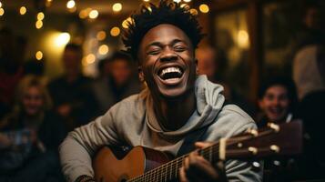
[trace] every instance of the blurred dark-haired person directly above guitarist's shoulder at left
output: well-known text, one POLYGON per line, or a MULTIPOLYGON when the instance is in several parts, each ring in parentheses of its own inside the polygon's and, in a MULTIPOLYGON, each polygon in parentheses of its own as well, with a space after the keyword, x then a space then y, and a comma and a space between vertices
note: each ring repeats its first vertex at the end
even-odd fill
POLYGON ((99 62, 100 76, 93 87, 101 113, 141 90, 136 68, 132 58, 123 52, 115 52, 99 62))

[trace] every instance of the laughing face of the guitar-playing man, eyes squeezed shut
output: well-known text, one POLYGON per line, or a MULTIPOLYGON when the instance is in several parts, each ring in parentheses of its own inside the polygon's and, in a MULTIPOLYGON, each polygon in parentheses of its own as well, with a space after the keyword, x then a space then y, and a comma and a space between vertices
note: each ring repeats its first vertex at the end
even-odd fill
POLYGON ((140 74, 151 93, 167 98, 182 96, 194 86, 196 62, 193 46, 181 29, 162 24, 150 29, 139 50, 140 74))

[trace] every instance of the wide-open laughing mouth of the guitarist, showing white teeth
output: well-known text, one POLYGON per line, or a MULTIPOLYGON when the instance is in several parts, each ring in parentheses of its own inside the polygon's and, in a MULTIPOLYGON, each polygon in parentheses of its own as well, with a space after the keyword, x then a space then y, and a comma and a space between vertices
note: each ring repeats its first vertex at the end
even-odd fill
POLYGON ((178 81, 183 76, 184 71, 181 67, 165 67, 158 72, 158 76, 165 81, 178 81))

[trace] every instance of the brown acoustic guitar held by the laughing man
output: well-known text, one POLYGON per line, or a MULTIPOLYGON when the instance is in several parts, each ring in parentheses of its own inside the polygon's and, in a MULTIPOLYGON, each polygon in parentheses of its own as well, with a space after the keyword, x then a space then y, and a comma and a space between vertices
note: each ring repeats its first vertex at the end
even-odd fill
MULTIPOLYGON (((214 163, 220 159, 292 156, 300 154, 301 150, 302 126, 300 121, 294 121, 269 124, 259 131, 250 129, 239 136, 221 138, 209 147, 198 149, 198 154, 214 163)), ((164 152, 147 147, 122 147, 118 151, 103 147, 94 158, 93 167, 96 181, 100 182, 174 181, 187 156, 172 159, 164 152)))

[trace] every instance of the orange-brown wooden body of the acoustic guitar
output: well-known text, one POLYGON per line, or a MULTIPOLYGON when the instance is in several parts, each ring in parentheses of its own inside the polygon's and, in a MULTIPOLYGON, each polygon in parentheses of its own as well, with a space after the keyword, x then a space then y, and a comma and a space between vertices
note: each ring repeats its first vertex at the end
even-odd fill
POLYGON ((96 181, 123 182, 148 170, 167 163, 171 157, 166 153, 147 147, 103 147, 93 159, 96 181))

